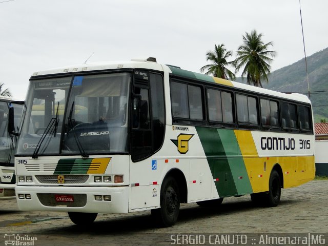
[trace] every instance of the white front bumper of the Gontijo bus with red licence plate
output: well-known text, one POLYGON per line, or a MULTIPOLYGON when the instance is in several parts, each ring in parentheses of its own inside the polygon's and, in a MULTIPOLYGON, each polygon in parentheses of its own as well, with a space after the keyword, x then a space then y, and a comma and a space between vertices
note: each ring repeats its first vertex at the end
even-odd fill
POLYGON ((129 187, 16 186, 18 208, 24 211, 128 213, 129 187))

